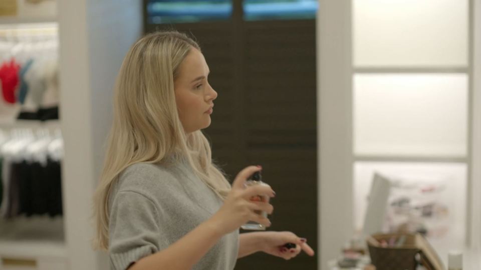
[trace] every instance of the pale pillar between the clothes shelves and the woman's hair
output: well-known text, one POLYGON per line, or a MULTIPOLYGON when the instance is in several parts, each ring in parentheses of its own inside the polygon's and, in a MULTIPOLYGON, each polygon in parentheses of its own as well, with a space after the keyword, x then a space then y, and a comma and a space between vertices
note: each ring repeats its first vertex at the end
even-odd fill
POLYGON ((70 270, 107 269, 94 252, 92 195, 111 124, 112 88, 142 30, 142 1, 59 1, 63 194, 70 270))

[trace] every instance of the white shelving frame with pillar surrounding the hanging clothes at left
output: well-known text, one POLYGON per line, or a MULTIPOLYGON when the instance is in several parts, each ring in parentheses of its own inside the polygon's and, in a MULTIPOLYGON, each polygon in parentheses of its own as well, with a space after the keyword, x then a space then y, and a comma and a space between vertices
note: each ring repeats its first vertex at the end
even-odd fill
POLYGON ((0 223, 1 270, 107 269, 94 251, 92 196, 111 119, 112 89, 120 64, 142 32, 142 2, 57 1, 33 6, 17 0, 18 16, 2 25, 54 23, 59 29, 59 121, 0 121, 0 128, 58 127, 62 130, 63 217, 0 223), (60 11, 61 10, 61 11, 60 11))

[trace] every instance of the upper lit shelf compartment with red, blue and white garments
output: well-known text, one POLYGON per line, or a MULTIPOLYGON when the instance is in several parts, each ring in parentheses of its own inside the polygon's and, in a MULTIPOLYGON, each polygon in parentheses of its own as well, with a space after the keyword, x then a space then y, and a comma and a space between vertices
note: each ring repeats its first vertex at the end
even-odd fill
POLYGON ((0 120, 58 119, 58 27, 0 25, 0 120))

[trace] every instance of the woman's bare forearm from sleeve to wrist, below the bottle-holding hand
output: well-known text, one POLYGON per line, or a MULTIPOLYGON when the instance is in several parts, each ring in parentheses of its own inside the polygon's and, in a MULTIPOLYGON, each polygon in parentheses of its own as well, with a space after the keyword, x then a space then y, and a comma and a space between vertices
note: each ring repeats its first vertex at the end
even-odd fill
POLYGON ((222 237, 221 231, 211 220, 207 220, 185 234, 169 247, 138 260, 129 270, 187 270, 222 237))

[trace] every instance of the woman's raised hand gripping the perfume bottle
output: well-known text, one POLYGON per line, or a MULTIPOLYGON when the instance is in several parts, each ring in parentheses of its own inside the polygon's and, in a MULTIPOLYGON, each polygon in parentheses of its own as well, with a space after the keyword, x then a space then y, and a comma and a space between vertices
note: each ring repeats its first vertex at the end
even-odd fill
POLYGON ((232 183, 232 189, 224 200, 224 204, 210 218, 220 233, 225 234, 238 229, 247 221, 256 221, 266 227, 271 225, 268 218, 255 213, 255 210, 266 211, 271 214, 274 207, 264 201, 251 201, 256 195, 274 197, 274 190, 267 185, 253 185, 246 187, 244 183, 256 171, 262 168, 249 166, 240 171, 232 183))

